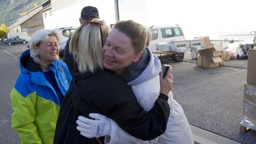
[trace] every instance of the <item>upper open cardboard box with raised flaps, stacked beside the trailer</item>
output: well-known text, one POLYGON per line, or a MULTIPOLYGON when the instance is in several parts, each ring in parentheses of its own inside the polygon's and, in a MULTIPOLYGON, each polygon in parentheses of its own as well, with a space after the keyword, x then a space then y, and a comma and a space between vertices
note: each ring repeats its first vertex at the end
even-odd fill
POLYGON ((215 44, 209 49, 198 50, 198 53, 203 56, 216 57, 222 54, 222 50, 224 50, 224 48, 222 47, 222 44, 215 44))

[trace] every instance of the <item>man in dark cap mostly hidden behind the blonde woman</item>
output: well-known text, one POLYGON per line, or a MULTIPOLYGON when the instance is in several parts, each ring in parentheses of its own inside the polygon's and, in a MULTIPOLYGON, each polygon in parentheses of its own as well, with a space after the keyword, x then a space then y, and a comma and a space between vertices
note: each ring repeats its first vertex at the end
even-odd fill
MULTIPOLYGON (((100 18, 98 14, 98 9, 92 6, 87 6, 82 9, 81 17, 79 18, 79 21, 80 21, 80 24, 82 24, 86 21, 91 21, 94 18, 100 18)), ((66 65, 68 65, 69 72, 73 76, 73 71, 75 71, 73 69, 74 69, 74 66, 77 67, 77 64, 73 59, 73 56, 69 54, 69 41, 70 41, 70 37, 66 42, 65 50, 63 52, 63 62, 65 62, 66 65)))

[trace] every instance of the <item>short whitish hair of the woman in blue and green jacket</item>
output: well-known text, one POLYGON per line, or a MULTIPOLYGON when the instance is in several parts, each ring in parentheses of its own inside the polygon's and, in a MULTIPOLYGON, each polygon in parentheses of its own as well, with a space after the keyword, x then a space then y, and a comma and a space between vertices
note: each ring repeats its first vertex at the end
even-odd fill
POLYGON ((36 52, 35 48, 40 46, 41 43, 47 41, 50 36, 55 36, 57 41, 60 40, 60 34, 57 30, 39 30, 33 34, 31 39, 28 41, 28 47, 30 48, 30 56, 33 58, 34 62, 41 63, 40 56, 36 52))

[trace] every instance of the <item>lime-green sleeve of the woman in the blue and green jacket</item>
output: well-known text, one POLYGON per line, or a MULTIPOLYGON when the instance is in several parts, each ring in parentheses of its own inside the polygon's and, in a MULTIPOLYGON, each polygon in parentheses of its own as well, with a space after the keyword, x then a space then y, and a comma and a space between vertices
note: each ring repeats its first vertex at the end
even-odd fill
POLYGON ((21 95, 16 88, 11 93, 12 103, 12 129, 17 130, 21 143, 42 143, 37 127, 34 125, 36 117, 36 92, 26 97, 21 95))

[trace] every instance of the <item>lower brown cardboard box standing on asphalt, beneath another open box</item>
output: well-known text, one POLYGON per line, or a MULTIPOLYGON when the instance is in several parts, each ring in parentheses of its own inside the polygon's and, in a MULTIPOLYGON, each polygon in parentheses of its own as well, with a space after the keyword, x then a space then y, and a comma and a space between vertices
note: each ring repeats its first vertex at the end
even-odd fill
POLYGON ((220 56, 216 57, 209 57, 209 56, 202 56, 202 66, 205 68, 215 68, 219 66, 222 59, 220 56))

